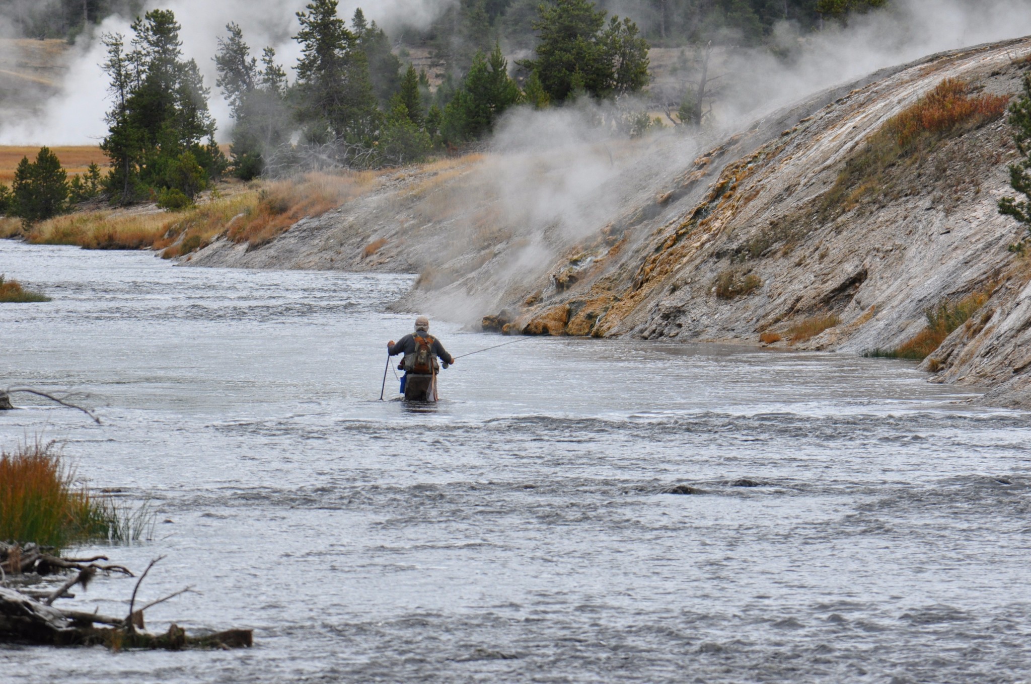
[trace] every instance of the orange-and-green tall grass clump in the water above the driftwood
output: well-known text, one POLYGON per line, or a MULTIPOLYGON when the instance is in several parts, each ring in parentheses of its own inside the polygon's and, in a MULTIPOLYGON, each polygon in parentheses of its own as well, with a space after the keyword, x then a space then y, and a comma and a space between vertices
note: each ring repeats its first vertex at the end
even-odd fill
POLYGON ((120 510, 76 488, 54 443, 0 451, 0 540, 58 549, 89 539, 131 541, 146 531, 136 518, 153 517, 140 510, 120 510))

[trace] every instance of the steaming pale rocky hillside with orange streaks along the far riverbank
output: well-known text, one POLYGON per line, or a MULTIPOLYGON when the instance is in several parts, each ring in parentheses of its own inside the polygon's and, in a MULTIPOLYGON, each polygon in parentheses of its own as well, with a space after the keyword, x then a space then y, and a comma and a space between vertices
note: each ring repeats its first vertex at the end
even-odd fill
POLYGON ((505 332, 854 353, 898 347, 926 310, 977 295, 925 364, 1031 405, 1031 265, 1007 251, 1021 229, 996 211, 1015 155, 1004 121, 936 142, 861 196, 832 195, 866 141, 943 79, 1013 95, 1029 54, 1024 39, 934 56, 702 146, 577 138, 555 113, 530 151, 398 173, 268 245, 220 241, 193 263, 418 271, 400 308, 505 332))

